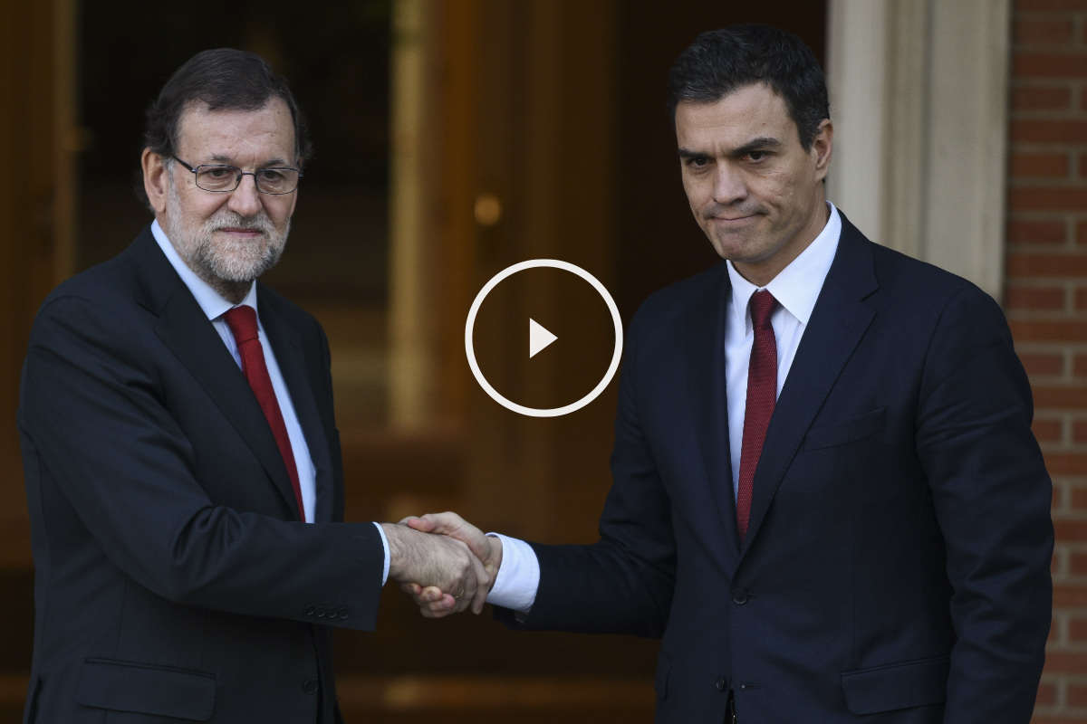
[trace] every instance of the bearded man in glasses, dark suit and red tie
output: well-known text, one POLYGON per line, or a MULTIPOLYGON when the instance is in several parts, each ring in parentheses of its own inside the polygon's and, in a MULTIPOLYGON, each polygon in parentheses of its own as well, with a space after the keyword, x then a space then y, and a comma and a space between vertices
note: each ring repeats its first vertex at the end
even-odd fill
POLYGON ((287 241, 299 118, 259 56, 192 58, 148 112, 154 220, 39 310, 26 722, 330 724, 332 627, 372 630, 387 577, 483 606, 464 544, 341 522, 325 335, 254 281, 287 241))

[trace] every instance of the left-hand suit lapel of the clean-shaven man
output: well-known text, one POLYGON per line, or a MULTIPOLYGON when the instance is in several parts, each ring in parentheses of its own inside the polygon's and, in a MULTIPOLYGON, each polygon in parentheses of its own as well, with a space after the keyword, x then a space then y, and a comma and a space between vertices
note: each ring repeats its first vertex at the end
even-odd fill
POLYGON ((738 534, 733 497, 732 456, 728 446, 728 404, 725 388, 725 309, 732 284, 724 265, 717 280, 692 306, 687 318, 687 394, 695 430, 702 450, 705 481, 720 520, 708 531, 721 531, 715 548, 723 552, 728 571, 735 570, 738 534))

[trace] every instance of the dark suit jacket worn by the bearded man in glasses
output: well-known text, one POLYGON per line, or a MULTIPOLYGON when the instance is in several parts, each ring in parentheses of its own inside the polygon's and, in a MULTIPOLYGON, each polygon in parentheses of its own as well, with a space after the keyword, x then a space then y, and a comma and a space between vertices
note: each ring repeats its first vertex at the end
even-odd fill
POLYGON ((314 524, 260 406, 150 229, 42 304, 18 428, 26 722, 333 722, 330 628, 371 630, 384 549, 343 517, 328 345, 259 287, 316 467, 314 524), (320 714, 320 719, 318 719, 320 714))

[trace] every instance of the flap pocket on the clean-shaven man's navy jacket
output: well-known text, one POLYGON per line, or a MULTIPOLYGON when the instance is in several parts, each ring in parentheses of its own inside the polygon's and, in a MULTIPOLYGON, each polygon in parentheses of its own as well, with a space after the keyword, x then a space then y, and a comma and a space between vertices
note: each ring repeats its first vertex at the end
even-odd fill
POLYGON ((846 706, 854 714, 874 714, 942 703, 950 670, 950 658, 939 657, 842 672, 846 706))

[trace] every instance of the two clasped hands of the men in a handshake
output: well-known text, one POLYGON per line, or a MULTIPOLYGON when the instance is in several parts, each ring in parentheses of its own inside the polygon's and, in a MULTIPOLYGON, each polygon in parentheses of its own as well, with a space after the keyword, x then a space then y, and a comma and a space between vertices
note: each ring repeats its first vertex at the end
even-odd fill
POLYGON ((454 512, 382 523, 389 542, 389 577, 428 619, 467 608, 479 613, 502 566, 502 542, 454 512))

